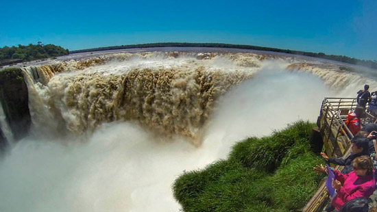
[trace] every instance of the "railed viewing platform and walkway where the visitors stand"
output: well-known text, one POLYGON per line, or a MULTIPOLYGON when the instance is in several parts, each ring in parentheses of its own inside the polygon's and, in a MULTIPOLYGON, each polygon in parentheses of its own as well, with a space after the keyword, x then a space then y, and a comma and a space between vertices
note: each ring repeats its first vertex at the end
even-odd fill
MULTIPOLYGON (((325 98, 322 102, 317 119, 317 128, 313 129, 313 135, 317 134, 317 140, 323 142, 328 157, 345 158, 350 155, 351 139, 354 136, 350 129, 345 126, 344 121, 348 113, 353 111, 356 106, 356 98, 325 98)), ((366 116, 361 119, 361 124, 364 125, 369 122, 376 122, 376 117, 366 111, 366 116)), ((341 170, 343 166, 337 165, 335 168, 341 170)), ((328 191, 324 181, 322 181, 315 195, 306 203, 303 211, 322 211, 324 204, 328 202, 327 200, 328 191)))

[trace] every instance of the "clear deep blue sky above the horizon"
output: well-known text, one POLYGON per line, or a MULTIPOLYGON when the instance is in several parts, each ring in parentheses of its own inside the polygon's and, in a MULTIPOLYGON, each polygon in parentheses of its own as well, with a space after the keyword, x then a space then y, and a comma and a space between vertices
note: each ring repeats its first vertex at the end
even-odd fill
POLYGON ((223 42, 377 60, 376 0, 5 1, 0 47, 223 42))

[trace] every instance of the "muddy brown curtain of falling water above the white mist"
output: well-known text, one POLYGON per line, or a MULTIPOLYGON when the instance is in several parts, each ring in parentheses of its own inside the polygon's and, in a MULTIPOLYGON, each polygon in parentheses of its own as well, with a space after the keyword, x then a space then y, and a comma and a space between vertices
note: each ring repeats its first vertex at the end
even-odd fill
POLYGON ((25 68, 34 130, 82 135, 130 120, 199 145, 219 96, 261 66, 256 57, 227 56, 125 53, 25 68))

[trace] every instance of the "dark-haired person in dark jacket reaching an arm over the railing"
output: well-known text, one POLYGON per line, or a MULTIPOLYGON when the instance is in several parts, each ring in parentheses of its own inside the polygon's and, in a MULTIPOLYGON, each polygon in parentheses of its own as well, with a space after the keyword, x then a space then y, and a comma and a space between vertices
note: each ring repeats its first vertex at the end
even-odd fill
POLYGON ((369 140, 366 137, 361 135, 356 135, 352 138, 352 153, 345 159, 335 159, 332 157, 328 157, 326 153, 321 153, 321 156, 326 160, 328 163, 334 163, 336 165, 344 165, 343 170, 341 170, 342 174, 347 174, 352 171, 352 160, 356 157, 360 157, 361 155, 369 155, 369 140))

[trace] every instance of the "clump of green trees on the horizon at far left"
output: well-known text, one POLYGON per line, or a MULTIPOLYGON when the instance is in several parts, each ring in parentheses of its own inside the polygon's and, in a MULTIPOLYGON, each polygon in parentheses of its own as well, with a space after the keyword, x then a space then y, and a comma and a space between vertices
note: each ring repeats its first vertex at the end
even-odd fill
POLYGON ((18 47, 0 48, 0 66, 60 55, 69 55, 69 50, 53 44, 44 45, 42 42, 27 46, 19 44, 18 47))

